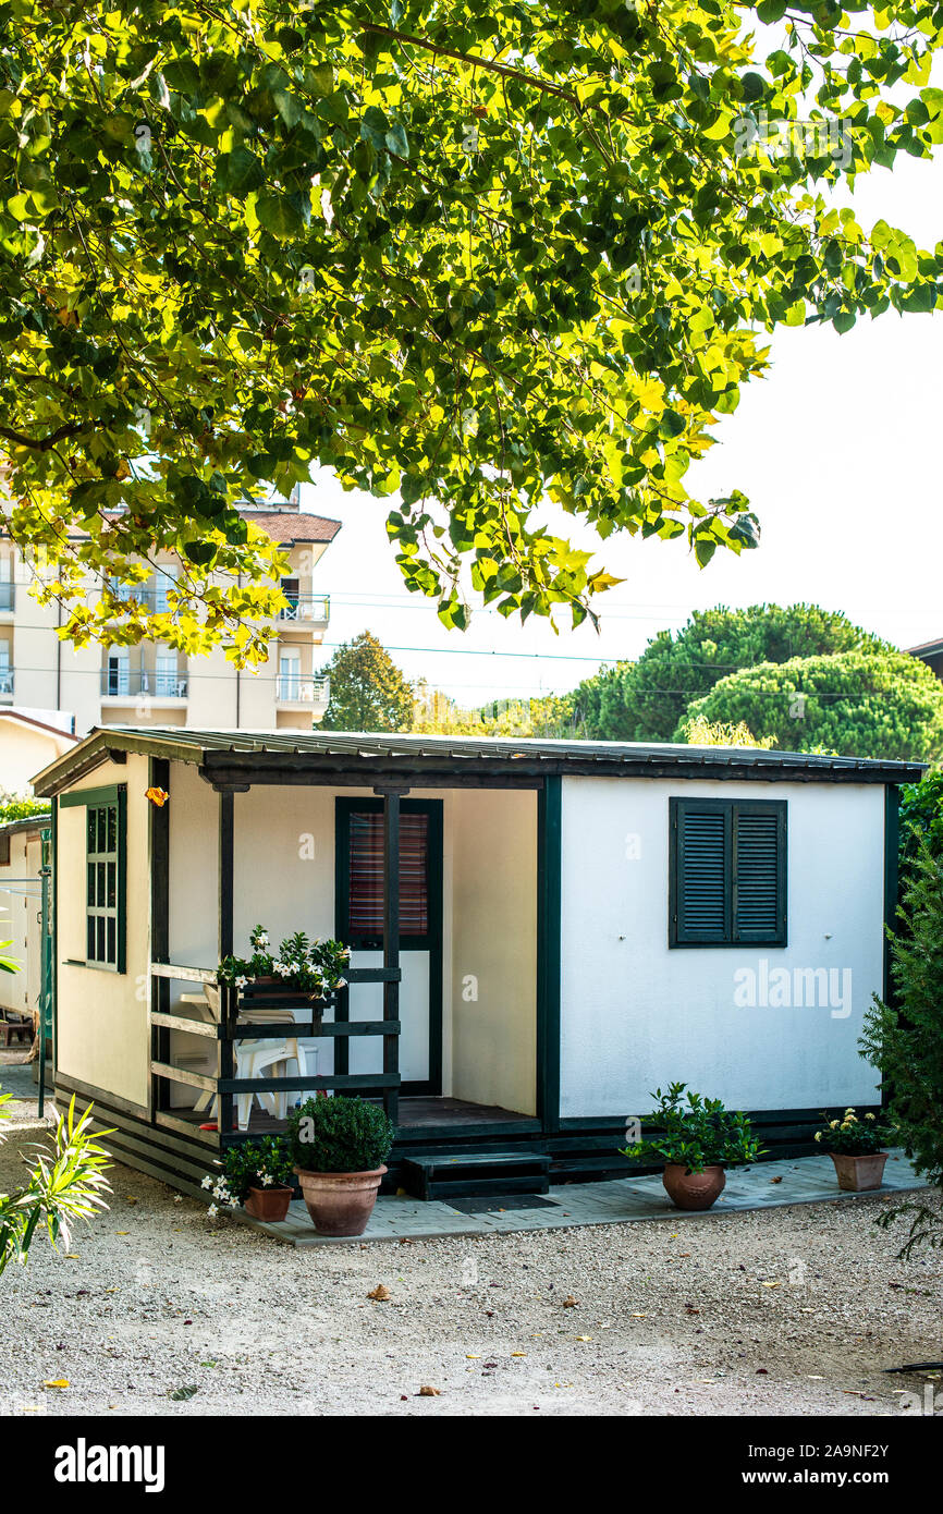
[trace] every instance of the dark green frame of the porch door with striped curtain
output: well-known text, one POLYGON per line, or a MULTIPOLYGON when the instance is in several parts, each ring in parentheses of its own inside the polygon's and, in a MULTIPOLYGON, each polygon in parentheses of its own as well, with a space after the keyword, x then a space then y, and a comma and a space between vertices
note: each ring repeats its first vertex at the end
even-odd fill
MULTIPOLYGON (((375 951, 377 946, 351 943, 347 934, 350 907, 350 818, 372 812, 383 813, 383 799, 335 799, 335 936, 354 951, 375 951)), ((428 933, 400 936, 400 952, 428 952, 428 1078, 401 1083, 400 1093, 442 1093, 442 799, 400 799, 400 815, 428 816, 428 933)), ((403 993, 403 986, 400 986, 403 993)))

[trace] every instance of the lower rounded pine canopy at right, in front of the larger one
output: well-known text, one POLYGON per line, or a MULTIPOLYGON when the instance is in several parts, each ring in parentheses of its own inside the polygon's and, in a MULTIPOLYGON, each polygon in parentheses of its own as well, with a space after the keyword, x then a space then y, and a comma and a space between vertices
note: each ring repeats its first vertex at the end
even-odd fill
POLYGON ((943 683, 907 653, 837 653, 761 663, 720 678, 690 706, 707 721, 745 721, 787 751, 928 762, 943 754, 943 683))

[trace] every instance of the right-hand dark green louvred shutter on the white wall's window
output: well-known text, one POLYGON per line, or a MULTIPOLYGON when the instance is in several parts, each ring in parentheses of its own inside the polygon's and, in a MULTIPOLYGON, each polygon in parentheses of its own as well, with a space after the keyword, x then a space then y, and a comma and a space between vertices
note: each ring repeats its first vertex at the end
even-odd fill
POLYGON ((786 942, 786 801, 734 807, 734 939, 786 942))

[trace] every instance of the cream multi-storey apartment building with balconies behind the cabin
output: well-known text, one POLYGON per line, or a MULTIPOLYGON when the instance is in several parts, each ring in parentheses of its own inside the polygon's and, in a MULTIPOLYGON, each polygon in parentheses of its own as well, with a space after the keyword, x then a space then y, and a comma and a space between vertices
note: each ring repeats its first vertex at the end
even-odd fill
MULTIPOLYGON (((186 657, 154 642, 73 646, 58 634, 61 607, 36 604, 29 593, 32 569, 9 539, 0 539, 0 706, 33 716, 71 715, 76 736, 109 724, 310 731, 330 693, 319 671, 330 595, 318 592, 315 568, 341 522, 301 510, 297 498, 242 513, 279 542, 291 563, 282 580, 288 607, 272 624, 265 663, 238 671, 219 648, 186 657)), ((150 581, 126 595, 163 612, 176 572, 170 554, 156 554, 150 581)), ((89 584, 89 593, 100 587, 89 584)))

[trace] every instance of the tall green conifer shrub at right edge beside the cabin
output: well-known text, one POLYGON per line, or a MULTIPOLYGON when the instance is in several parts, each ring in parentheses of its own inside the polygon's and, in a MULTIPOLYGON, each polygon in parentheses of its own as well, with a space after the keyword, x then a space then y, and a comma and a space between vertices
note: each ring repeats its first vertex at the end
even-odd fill
MULTIPOLYGON (((864 1019, 863 1055, 881 1073, 898 1140, 917 1173, 943 1188, 943 857, 923 845, 904 902, 904 930, 892 937, 893 1002, 876 995, 864 1019)), ((943 1246, 943 1219, 925 1204, 908 1202, 881 1216, 881 1225, 911 1216, 914 1246, 943 1246)))

